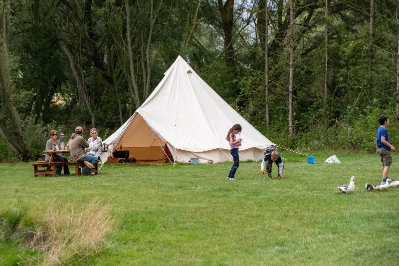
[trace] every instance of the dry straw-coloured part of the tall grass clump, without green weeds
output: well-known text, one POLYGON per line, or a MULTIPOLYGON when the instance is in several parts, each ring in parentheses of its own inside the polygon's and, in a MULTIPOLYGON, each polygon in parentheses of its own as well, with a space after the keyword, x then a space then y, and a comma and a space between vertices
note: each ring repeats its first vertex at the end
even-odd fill
POLYGON ((42 263, 63 264, 72 258, 98 253, 114 225, 110 211, 110 205, 102 205, 98 200, 79 209, 50 206, 43 221, 47 241, 42 263))

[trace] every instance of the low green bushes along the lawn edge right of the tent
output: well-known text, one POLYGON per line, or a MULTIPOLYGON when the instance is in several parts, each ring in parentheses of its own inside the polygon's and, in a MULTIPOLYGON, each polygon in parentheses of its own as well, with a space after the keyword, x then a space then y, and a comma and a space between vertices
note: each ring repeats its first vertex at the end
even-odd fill
POLYGON ((287 130, 276 130, 273 127, 265 136, 282 146, 300 150, 356 150, 375 152, 376 131, 380 126, 378 117, 381 114, 391 116, 391 143, 399 143, 399 123, 395 122, 395 103, 386 108, 381 107, 378 100, 364 110, 348 108, 341 119, 332 124, 314 123, 309 125, 306 132, 296 133, 289 137, 287 130), (394 114, 394 115, 392 115, 394 114))

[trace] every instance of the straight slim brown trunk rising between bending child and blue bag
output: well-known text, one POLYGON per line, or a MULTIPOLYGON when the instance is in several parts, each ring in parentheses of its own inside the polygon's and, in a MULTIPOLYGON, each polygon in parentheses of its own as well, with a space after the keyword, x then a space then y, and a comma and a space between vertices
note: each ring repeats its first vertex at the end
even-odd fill
POLYGON ((288 130, 289 135, 293 135, 292 128, 292 90, 293 90, 293 79, 294 79, 294 40, 293 40, 293 23, 294 23, 294 7, 292 4, 293 0, 289 0, 290 8, 290 40, 289 40, 289 51, 290 51, 290 77, 289 77, 289 88, 288 88, 288 130))

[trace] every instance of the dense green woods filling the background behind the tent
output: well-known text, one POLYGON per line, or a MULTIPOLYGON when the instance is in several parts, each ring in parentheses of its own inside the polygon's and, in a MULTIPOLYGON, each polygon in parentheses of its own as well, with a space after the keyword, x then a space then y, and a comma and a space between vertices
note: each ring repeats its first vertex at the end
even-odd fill
POLYGON ((272 141, 372 150, 378 114, 398 118, 398 5, 0 0, 0 159, 40 154, 49 128, 111 132, 178 55, 272 141))

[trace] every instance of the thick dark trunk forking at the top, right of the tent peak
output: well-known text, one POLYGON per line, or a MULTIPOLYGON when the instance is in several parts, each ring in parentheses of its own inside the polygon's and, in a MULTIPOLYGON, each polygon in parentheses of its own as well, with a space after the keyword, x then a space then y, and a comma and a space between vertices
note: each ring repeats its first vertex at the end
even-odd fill
POLYGON ((225 61, 228 66, 234 65, 233 46, 233 22, 234 22, 234 0, 217 0, 221 17, 221 27, 224 37, 225 61))

